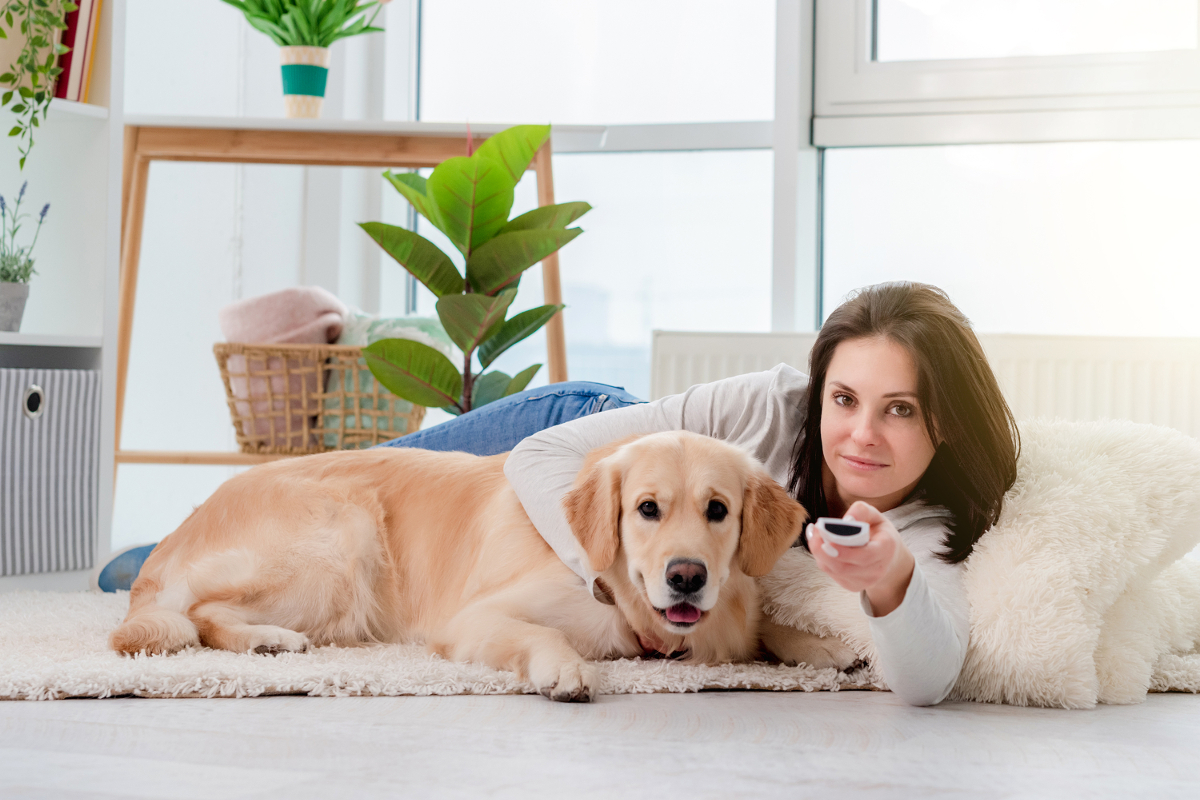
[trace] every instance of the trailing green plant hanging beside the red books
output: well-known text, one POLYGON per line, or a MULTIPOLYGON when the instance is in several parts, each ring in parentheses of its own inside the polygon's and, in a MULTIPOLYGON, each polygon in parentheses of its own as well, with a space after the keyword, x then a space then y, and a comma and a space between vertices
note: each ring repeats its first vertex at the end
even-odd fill
POLYGON ((0 38, 10 34, 25 37, 17 60, 0 74, 0 86, 7 91, 0 97, 0 106, 17 115, 17 125, 8 131, 10 137, 20 140, 20 168, 34 149, 34 128, 40 127, 38 116, 46 120, 54 97, 54 80, 62 72, 59 56, 71 48, 59 43, 66 30, 66 16, 79 6, 70 0, 5 0, 0 10, 0 38))

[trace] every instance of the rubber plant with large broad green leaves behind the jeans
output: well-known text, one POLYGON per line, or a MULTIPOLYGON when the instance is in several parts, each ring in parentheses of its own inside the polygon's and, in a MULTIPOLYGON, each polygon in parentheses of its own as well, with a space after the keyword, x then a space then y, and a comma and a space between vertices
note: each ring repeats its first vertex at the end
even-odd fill
POLYGON ((486 139, 473 154, 448 158, 428 180, 415 173, 384 178, 418 213, 444 233, 462 254, 458 271, 449 255, 412 230, 382 222, 361 228, 413 277, 437 295, 437 313, 462 350, 462 369, 431 347, 383 339, 362 350, 376 379, 407 401, 464 414, 524 389, 540 363, 509 375, 486 372, 496 359, 563 309, 548 305, 508 318, 521 275, 578 236, 568 228, 592 206, 560 203, 509 219, 512 192, 548 125, 518 125, 486 139), (479 371, 474 368, 479 361, 479 371))

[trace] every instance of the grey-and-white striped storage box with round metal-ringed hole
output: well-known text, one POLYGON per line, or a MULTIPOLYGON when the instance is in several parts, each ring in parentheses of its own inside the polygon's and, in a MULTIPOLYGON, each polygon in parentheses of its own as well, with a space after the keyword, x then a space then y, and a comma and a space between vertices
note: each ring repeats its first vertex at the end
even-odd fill
POLYGON ((0 576, 91 567, 98 451, 98 372, 0 369, 0 576))

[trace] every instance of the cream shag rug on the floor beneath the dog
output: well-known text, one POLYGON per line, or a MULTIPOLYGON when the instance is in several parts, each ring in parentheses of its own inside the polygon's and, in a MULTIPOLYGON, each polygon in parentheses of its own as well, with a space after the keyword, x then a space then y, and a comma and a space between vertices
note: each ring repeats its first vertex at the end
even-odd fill
MULTIPOLYGON (((172 656, 122 657, 108 649, 107 638, 128 602, 124 591, 0 595, 0 698, 534 693, 514 673, 446 661, 418 645, 318 648, 278 656, 193 648, 172 656)), ((882 688, 870 668, 847 674, 766 663, 703 667, 623 658, 601 662, 600 674, 601 694, 882 688)))

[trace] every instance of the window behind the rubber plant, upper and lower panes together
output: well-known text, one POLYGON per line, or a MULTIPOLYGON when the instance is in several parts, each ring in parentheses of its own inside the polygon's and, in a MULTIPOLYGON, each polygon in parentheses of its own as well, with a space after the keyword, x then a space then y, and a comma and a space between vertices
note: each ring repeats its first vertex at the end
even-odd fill
MULTIPOLYGON (((718 0, 425 0, 422 120, 604 126, 593 145, 556 142, 556 199, 593 206, 578 222, 587 233, 560 255, 571 378, 648 397, 653 329, 769 329, 769 134, 750 145, 758 149, 738 148, 774 115, 774 46, 772 0, 736 10, 718 0)), ((535 201, 529 175, 514 213, 535 201)), ((398 291, 395 276, 384 291, 398 291)), ((534 267, 514 309, 540 305, 541 291, 534 267)), ((419 289, 416 313, 432 314, 432 300, 419 289)), ((538 335, 497 368, 511 373, 545 353, 538 335)))

